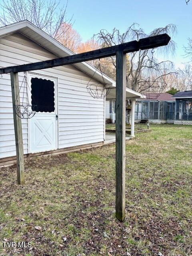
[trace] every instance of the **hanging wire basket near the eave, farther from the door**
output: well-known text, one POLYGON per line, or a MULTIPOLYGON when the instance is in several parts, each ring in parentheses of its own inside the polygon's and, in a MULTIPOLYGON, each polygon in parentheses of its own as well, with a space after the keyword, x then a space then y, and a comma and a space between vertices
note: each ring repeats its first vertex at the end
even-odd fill
POLYGON ((87 84, 87 91, 94 99, 102 99, 102 98, 105 98, 109 94, 111 85, 107 84, 104 80, 104 77, 103 77, 103 74, 101 71, 101 66, 100 66, 100 59, 99 59, 98 68, 96 70, 95 70, 92 78, 89 80, 89 82, 87 84), (103 86, 101 86, 100 83, 91 83, 91 79, 94 77, 96 70, 100 70, 100 72, 101 72, 103 86))

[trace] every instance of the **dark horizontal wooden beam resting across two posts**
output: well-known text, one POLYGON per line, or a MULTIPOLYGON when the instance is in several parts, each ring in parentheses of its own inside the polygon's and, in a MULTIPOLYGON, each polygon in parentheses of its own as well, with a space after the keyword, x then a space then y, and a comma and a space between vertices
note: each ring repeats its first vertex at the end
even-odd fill
POLYGON ((19 66, 10 66, 7 68, 0 68, 0 74, 6 74, 10 72, 33 71, 33 70, 40 70, 45 68, 54 68, 58 66, 75 64, 75 63, 84 62, 88 60, 95 60, 98 58, 106 58, 109 56, 116 55, 117 51, 122 51, 124 54, 128 52, 136 52, 138 50, 164 46, 164 45, 167 45, 169 41, 170 41, 170 36, 168 36, 168 34, 151 36, 148 38, 140 39, 139 41, 135 40, 135 41, 127 42, 124 44, 119 44, 111 47, 93 50, 90 52, 74 54, 74 55, 70 55, 62 58, 45 60, 45 61, 24 64, 19 66))

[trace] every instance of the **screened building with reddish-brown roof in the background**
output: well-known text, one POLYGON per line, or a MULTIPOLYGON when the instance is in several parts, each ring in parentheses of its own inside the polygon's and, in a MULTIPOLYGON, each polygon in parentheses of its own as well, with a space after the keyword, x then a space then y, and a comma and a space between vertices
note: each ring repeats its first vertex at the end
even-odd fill
POLYGON ((167 92, 145 94, 146 99, 137 100, 135 120, 149 120, 150 123, 165 123, 174 119, 175 99, 167 92))

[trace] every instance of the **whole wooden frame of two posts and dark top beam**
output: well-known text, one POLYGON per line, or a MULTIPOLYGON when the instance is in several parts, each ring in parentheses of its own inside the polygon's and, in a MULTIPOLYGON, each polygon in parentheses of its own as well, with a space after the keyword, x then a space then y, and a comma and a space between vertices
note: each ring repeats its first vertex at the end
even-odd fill
MULTIPOLYGON (((116 218, 123 221, 125 216, 125 100, 126 100, 126 53, 136 52, 167 45, 170 36, 162 34, 132 41, 116 46, 74 54, 67 57, 56 58, 36 63, 24 64, 0 68, 0 74, 11 73, 13 108, 16 102, 16 95, 19 91, 18 72, 54 68, 68 64, 75 64, 98 58, 106 58, 116 55, 116 218)), ((18 184, 24 184, 24 158, 21 120, 14 117, 14 129, 17 154, 18 184)))

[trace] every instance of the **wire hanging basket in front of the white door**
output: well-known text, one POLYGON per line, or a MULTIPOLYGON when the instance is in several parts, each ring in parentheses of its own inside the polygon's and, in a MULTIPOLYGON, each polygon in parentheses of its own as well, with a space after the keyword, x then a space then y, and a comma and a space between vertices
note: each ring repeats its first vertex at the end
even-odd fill
MULTIPOLYGON (((22 84, 20 86, 19 92, 16 96, 16 99, 19 97, 20 90, 22 87, 23 87, 22 102, 20 102, 19 105, 15 104, 14 110, 18 117, 23 118, 23 119, 29 119, 35 115, 36 110, 37 110, 37 105, 29 104, 29 98, 28 98, 29 86, 28 86, 28 82, 27 82, 27 78, 26 78, 26 72, 24 72, 24 78, 23 78, 22 84), (24 100, 25 93, 26 93, 26 100, 24 100), (33 107, 33 110, 32 110, 32 107, 33 107)), ((16 100, 15 100, 15 102, 16 102, 16 100)))

